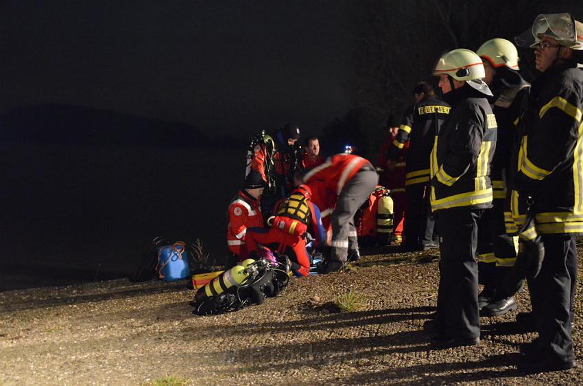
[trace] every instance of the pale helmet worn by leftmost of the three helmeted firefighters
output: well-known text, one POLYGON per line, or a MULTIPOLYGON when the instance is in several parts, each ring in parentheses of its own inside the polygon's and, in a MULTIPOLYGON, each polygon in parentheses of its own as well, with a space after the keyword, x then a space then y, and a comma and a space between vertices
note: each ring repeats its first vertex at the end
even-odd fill
POLYGON ((449 75, 455 80, 478 80, 486 76, 479 56, 469 49, 458 48, 444 54, 433 75, 449 75))

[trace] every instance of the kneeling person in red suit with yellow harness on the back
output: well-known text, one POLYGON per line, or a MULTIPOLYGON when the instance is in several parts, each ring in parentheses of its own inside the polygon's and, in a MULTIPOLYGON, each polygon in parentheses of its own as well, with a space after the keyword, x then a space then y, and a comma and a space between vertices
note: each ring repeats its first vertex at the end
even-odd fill
POLYGON ((314 245, 325 239, 320 209, 311 202, 311 189, 300 185, 292 194, 278 203, 274 216, 268 220, 269 229, 249 229, 248 251, 257 251, 259 244, 287 256, 292 272, 298 276, 310 273, 311 258, 306 250, 307 233, 314 245))

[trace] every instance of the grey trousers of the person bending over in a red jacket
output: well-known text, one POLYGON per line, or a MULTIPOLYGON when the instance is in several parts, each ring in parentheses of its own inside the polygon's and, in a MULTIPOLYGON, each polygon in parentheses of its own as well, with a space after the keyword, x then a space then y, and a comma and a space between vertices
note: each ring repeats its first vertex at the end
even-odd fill
POLYGON ((331 214, 332 253, 330 260, 345 263, 350 248, 358 249, 354 216, 359 207, 377 188, 379 176, 374 170, 359 170, 342 188, 336 200, 336 207, 331 214))

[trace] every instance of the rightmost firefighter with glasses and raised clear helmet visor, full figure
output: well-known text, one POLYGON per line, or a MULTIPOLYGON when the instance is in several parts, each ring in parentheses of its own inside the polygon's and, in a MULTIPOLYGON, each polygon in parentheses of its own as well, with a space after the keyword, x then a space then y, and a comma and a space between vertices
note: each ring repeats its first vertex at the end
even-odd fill
POLYGON ((571 305, 575 291, 575 236, 583 234, 583 24, 569 14, 540 14, 532 25, 536 69, 524 115, 512 216, 532 197, 536 232, 545 256, 529 280, 538 339, 525 348, 523 370, 542 372, 575 366, 571 305))

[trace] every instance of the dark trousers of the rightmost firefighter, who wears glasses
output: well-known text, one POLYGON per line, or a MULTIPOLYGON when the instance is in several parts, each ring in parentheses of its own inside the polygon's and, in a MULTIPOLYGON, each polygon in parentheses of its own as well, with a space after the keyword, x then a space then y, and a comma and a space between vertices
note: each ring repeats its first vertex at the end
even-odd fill
POLYGON ((528 283, 541 355, 569 361, 573 359, 571 305, 577 278, 575 236, 543 235, 543 245, 543 266, 528 283))

